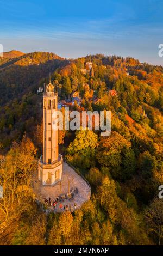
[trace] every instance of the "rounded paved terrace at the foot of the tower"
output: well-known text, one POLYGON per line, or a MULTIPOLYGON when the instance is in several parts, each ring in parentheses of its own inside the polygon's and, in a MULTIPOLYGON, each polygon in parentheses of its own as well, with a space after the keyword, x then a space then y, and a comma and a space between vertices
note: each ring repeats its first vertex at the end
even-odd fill
POLYGON ((82 204, 88 201, 91 197, 91 190, 87 182, 79 176, 73 168, 63 162, 62 180, 55 185, 44 186, 41 182, 35 181, 34 192, 41 201, 43 201, 44 198, 48 199, 49 197, 51 200, 55 200, 57 197, 62 196, 62 194, 67 194, 68 191, 74 188, 78 189, 78 193, 75 194, 73 199, 64 199, 64 202, 58 202, 55 209, 52 207, 51 211, 62 212, 66 205, 71 205, 71 211, 74 211, 75 209, 79 209, 82 204), (60 204, 62 205, 61 208, 60 204), (76 207, 74 207, 74 204, 76 204, 76 207))

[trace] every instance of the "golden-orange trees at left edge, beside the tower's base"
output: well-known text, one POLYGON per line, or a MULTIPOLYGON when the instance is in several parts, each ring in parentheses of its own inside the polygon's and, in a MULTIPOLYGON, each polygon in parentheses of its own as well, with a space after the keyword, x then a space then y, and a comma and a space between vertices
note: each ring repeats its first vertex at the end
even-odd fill
POLYGON ((6 220, 23 212, 32 197, 32 175, 37 168, 36 149, 26 135, 20 144, 13 143, 12 148, 0 163, 0 185, 3 186, 3 199, 0 212, 6 220))

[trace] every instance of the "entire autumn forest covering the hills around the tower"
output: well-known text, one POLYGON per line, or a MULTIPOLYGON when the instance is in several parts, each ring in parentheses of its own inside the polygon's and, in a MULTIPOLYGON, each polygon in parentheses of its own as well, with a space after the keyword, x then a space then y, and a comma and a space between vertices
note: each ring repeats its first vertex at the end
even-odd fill
POLYGON ((2 62, 0 95, 2 244, 163 243, 163 201, 158 198, 163 184, 162 66, 130 57, 66 60, 34 52, 2 62), (49 72, 59 100, 78 90, 82 103, 74 102, 71 109, 111 111, 111 135, 59 132, 62 154, 85 175, 92 196, 73 214, 46 216, 35 203, 31 183, 42 148, 42 95, 36 90, 49 72))

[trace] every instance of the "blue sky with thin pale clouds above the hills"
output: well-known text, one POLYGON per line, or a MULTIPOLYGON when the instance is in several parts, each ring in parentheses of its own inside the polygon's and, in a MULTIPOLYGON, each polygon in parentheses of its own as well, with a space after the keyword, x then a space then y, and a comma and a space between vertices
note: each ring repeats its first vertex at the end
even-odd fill
POLYGON ((163 65, 162 11, 160 0, 0 0, 0 44, 4 51, 116 54, 163 65))

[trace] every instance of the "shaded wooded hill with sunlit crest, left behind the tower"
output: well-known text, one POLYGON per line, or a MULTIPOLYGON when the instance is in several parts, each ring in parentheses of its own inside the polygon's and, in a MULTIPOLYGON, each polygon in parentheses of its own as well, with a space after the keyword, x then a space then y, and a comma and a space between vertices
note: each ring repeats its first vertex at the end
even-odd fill
POLYGON ((0 65, 0 129, 2 147, 33 131, 40 121, 41 99, 36 91, 49 73, 65 66, 67 60, 54 53, 28 53, 0 65), (28 126, 28 127, 27 127, 28 126))

